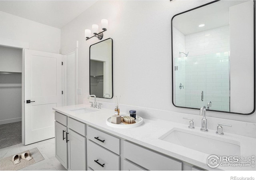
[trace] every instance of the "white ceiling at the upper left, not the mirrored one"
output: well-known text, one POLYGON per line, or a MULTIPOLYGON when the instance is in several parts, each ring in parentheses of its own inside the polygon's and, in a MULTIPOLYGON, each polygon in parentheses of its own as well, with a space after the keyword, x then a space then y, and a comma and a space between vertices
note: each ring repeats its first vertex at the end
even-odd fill
POLYGON ((62 28, 97 0, 0 0, 0 11, 62 28))

